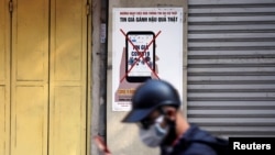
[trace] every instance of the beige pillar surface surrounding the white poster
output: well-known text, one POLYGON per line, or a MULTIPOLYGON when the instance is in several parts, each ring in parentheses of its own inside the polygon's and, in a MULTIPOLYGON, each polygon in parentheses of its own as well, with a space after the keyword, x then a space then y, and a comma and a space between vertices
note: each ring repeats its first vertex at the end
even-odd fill
MULTIPOLYGON (((140 142, 138 136, 136 125, 121 123, 122 118, 127 112, 112 111, 111 101, 111 86, 112 86, 112 8, 154 8, 154 7, 177 7, 184 8, 185 15, 187 15, 187 0, 112 0, 109 1, 109 30, 108 30, 108 107, 107 107, 107 143, 114 155, 147 155, 157 154, 158 148, 148 148, 140 142)), ((186 19, 186 18, 185 18, 186 19)), ((186 35, 187 24, 186 20, 184 23, 184 34, 186 35)), ((184 36, 184 79, 186 79, 186 36, 184 36)), ((184 80, 183 79, 183 80, 184 80)), ((184 80, 184 89, 186 89, 186 80, 184 80)), ((186 98, 186 90, 183 95, 186 98)))

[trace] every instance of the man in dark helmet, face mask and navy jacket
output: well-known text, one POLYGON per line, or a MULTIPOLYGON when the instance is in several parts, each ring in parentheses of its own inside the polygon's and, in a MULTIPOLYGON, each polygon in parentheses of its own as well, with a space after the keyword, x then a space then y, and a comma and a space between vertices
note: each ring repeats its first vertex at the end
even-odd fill
POLYGON ((132 110, 122 120, 136 123, 141 141, 161 147, 162 155, 218 155, 228 141, 188 123, 177 90, 167 81, 150 79, 132 97, 132 110))

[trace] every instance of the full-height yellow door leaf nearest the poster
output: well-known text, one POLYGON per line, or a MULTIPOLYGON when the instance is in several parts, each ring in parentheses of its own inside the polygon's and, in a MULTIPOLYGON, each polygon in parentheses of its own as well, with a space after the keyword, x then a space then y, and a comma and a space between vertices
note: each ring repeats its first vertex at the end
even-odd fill
POLYGON ((86 0, 51 1, 50 155, 86 154, 86 0))

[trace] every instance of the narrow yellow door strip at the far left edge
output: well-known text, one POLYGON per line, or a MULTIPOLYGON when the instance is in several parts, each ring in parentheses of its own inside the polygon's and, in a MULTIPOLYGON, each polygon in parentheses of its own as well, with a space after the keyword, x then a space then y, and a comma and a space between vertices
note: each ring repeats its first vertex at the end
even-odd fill
POLYGON ((0 0, 0 155, 9 154, 10 135, 10 22, 8 1, 0 0))

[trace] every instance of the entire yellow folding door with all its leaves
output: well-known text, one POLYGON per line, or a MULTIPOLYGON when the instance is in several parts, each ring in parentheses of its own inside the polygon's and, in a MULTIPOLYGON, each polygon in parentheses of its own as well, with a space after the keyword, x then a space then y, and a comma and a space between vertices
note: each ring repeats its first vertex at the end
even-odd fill
POLYGON ((87 1, 0 4, 0 154, 87 154, 87 1))

